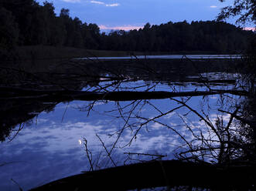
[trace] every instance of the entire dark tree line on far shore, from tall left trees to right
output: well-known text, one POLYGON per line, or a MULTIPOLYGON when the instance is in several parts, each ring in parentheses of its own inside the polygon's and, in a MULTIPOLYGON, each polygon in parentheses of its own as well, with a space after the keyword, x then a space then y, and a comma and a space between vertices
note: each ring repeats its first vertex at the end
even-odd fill
POLYGON ((139 30, 101 32, 96 24, 71 18, 69 9, 54 12, 52 2, 0 0, 0 48, 19 45, 69 46, 80 49, 142 52, 240 52, 253 32, 226 22, 147 23, 139 30))

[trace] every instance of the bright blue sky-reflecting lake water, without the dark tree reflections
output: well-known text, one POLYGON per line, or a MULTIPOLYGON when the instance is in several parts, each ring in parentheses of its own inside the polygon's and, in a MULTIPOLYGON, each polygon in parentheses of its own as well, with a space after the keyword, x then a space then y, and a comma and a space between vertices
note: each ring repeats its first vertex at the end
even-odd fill
MULTIPOLYGON (((168 56, 157 57, 165 59, 168 56)), ((177 56, 175 59, 178 59, 178 55, 172 56, 177 56)), ((197 59, 201 58, 200 56, 193 55, 190 58, 197 59)), ((148 56, 148 58, 156 57, 148 56)), ((237 81, 238 75, 200 73, 200 76, 237 81)), ((193 77, 198 76, 190 76, 193 77)), ((107 89, 108 91, 188 92, 208 89, 204 82, 166 80, 152 82, 142 79, 113 82, 87 85, 83 91, 101 89, 101 92, 107 89)), ((234 84, 215 82, 210 84, 210 87, 232 89, 234 84)), ((218 116, 227 123, 229 115, 219 112, 218 109, 227 109, 234 102, 241 101, 237 96, 229 94, 175 99, 186 102, 189 107, 207 116, 213 123, 218 116)), ((17 125, 12 129, 9 137, 0 143, 0 190, 19 190, 19 186, 25 190, 31 189, 55 179, 90 170, 84 145, 85 139, 87 149, 92 153, 95 169, 102 169, 114 166, 104 146, 111 151, 114 163, 119 166, 148 161, 158 155, 161 155, 162 159, 175 159, 176 153, 186 149, 184 138, 187 141, 193 140, 195 136, 193 133, 197 133, 198 136, 202 134, 206 137, 210 136, 209 129, 199 116, 185 106, 178 108, 181 104, 172 99, 128 102, 40 102, 40 104, 50 106, 51 109, 47 109, 47 112, 32 110, 31 116, 36 117, 17 125), (193 133, 188 126, 193 129, 193 133), (120 137, 119 133, 121 133, 120 137), (133 155, 131 154, 133 152, 152 156, 133 155)))

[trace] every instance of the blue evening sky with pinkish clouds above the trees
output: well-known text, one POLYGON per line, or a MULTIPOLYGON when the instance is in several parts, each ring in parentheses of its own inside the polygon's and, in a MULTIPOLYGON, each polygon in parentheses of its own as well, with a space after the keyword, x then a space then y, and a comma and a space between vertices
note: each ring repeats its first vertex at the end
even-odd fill
MULTIPOLYGON (((45 0, 37 0, 42 4, 45 0)), ((220 9, 232 0, 49 0, 56 8, 69 8, 70 16, 82 22, 96 23, 101 30, 138 29, 147 22, 160 25, 169 21, 207 21, 217 17, 220 9)), ((234 18, 227 22, 234 24, 234 18)))

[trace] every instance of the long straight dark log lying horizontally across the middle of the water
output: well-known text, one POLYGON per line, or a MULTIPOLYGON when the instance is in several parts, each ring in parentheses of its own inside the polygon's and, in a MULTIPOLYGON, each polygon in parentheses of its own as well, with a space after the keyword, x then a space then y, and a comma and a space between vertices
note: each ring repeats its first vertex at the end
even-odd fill
POLYGON ((50 102, 67 102, 73 100, 94 101, 94 100, 109 100, 109 101, 131 101, 140 99, 169 99, 173 97, 183 96, 203 96, 230 93, 234 95, 247 95, 246 91, 237 90, 212 90, 212 91, 193 91, 193 92, 84 92, 84 91, 69 91, 69 90, 29 90, 29 89, 7 89, 2 90, 0 99, 36 99, 50 102))

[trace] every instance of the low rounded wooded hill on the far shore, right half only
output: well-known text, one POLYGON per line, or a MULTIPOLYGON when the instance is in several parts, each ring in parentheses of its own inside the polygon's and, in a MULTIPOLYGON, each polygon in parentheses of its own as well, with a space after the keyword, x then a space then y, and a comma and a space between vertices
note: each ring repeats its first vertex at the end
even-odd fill
POLYGON ((246 49, 252 32, 225 22, 168 22, 106 35, 104 49, 152 52, 239 52, 246 49), (110 43, 111 42, 111 43, 110 43))

